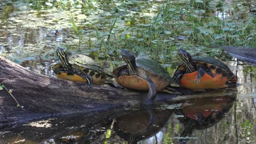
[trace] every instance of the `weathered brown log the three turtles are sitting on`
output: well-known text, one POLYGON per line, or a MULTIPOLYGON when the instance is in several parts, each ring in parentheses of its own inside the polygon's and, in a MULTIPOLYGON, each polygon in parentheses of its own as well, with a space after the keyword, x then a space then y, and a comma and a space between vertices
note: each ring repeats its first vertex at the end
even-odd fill
MULTIPOLYGON (((94 85, 87 92, 81 83, 40 75, 3 57, 0 57, 0 83, 13 90, 12 94, 26 110, 17 107, 7 91, 0 91, 0 125, 81 111, 138 106, 147 95, 147 92, 103 85, 94 85)), ((157 99, 173 97, 176 95, 158 94, 157 99)))

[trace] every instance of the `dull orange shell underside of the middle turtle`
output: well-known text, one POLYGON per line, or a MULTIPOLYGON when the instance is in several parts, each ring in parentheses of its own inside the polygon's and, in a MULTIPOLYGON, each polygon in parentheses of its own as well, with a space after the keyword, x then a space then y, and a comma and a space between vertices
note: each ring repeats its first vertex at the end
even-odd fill
MULTIPOLYGON (((169 81, 162 78, 161 76, 151 75, 151 79, 153 79, 154 84, 156 85, 156 90, 162 91, 164 87, 170 84, 169 81)), ((129 90, 138 90, 138 91, 148 91, 148 83, 140 78, 139 76, 127 76, 122 75, 117 78, 117 82, 119 85, 125 87, 129 90)))

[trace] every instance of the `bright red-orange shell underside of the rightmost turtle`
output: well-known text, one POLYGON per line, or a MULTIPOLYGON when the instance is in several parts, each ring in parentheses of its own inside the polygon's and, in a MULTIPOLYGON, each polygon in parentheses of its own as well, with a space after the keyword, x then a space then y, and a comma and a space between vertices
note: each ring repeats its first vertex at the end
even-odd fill
POLYGON ((204 74, 198 84, 196 83, 196 76, 197 71, 194 73, 185 74, 180 80, 180 85, 190 90, 217 89, 221 87, 227 87, 226 82, 228 82, 228 78, 222 77, 221 74, 214 74, 214 77, 211 77, 208 74, 204 74))

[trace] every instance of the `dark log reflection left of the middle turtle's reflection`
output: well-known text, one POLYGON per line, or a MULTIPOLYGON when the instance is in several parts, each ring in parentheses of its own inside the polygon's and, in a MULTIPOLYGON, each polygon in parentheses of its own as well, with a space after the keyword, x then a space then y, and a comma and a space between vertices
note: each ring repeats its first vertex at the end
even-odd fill
POLYGON ((102 143, 113 122, 111 115, 111 111, 94 111, 5 125, 0 143, 102 143))

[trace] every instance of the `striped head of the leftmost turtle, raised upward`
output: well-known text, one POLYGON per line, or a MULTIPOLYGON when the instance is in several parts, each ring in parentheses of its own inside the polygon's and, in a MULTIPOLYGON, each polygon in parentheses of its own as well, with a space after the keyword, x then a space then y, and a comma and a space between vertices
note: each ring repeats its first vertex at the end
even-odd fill
POLYGON ((57 48, 57 57, 60 59, 60 65, 64 68, 64 69, 71 69, 71 64, 68 62, 68 54, 67 52, 62 49, 61 47, 57 48))

